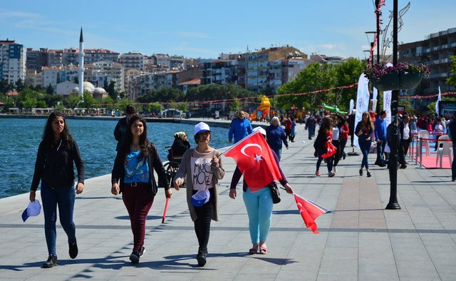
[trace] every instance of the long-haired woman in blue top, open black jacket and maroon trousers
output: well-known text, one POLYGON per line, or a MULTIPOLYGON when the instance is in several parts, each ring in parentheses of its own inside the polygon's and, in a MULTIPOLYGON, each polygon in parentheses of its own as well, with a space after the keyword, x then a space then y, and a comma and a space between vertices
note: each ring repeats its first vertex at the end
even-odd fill
POLYGON ((153 170, 157 172, 158 185, 165 188, 167 198, 171 197, 172 190, 157 148, 147 138, 145 119, 135 115, 128 124, 130 130, 127 131, 114 161, 111 193, 122 193, 133 232, 133 252, 130 260, 138 263, 145 250, 145 220, 157 194, 153 170))

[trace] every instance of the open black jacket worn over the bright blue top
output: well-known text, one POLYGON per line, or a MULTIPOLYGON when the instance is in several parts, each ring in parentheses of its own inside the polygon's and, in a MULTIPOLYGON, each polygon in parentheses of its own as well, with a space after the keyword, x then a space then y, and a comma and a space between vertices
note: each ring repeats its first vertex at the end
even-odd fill
MULTIPOLYGON (((155 145, 152 145, 152 148, 150 149, 152 151, 150 151, 149 158, 147 159, 149 164, 149 185, 152 196, 155 196, 155 194, 157 194, 158 187, 154 177, 154 170, 157 172, 158 186, 160 186, 160 188, 165 188, 166 190, 170 189, 170 182, 165 172, 165 168, 163 168, 162 160, 160 160, 160 155, 158 155, 157 148, 155 148, 155 145)), ((122 192, 123 178, 125 177, 125 166, 123 160, 125 160, 125 155, 118 152, 114 160, 113 173, 111 173, 111 183, 119 183, 120 192, 122 192)))

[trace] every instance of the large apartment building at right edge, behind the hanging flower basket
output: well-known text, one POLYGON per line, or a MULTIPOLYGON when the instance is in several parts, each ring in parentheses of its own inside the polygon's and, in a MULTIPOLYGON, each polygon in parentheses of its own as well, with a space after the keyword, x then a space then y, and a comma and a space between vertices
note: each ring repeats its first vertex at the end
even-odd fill
POLYGON ((439 86, 442 92, 456 91, 455 87, 445 83, 450 76, 450 56, 456 56, 456 28, 427 35, 423 41, 398 45, 399 62, 430 66, 430 77, 424 78, 414 90, 425 95, 438 93, 439 86))

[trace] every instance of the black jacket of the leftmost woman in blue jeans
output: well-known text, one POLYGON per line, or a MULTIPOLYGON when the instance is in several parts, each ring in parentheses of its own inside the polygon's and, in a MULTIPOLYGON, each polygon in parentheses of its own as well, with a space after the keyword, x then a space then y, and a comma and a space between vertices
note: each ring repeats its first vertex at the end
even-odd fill
POLYGON ((60 147, 48 147, 41 141, 30 190, 36 190, 40 180, 42 183, 51 185, 52 188, 73 185, 75 178, 73 163, 78 170, 78 182, 84 183, 86 170, 76 141, 70 139, 60 147))

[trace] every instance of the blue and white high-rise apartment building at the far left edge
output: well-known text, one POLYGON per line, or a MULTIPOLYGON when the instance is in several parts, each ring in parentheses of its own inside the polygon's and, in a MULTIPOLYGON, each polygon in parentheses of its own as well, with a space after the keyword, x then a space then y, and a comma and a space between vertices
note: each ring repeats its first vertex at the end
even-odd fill
POLYGON ((0 79, 16 83, 26 79, 26 50, 14 40, 0 40, 0 79))

